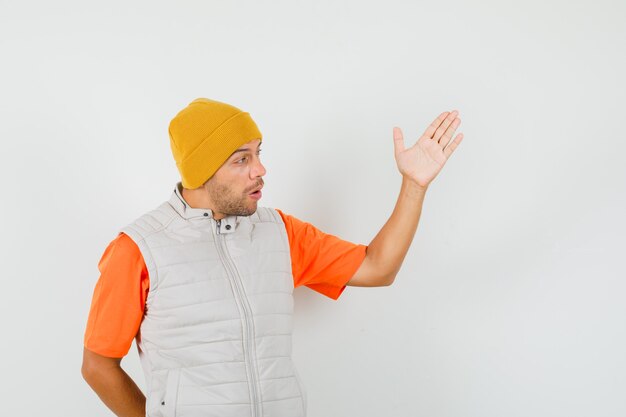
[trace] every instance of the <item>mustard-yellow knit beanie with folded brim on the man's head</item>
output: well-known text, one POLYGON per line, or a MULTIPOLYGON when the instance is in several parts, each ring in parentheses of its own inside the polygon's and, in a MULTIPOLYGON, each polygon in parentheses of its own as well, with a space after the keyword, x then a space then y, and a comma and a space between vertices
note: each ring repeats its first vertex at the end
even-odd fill
POLYGON ((170 146, 183 187, 202 186, 241 145, 262 139, 246 112, 198 98, 170 122, 170 146))

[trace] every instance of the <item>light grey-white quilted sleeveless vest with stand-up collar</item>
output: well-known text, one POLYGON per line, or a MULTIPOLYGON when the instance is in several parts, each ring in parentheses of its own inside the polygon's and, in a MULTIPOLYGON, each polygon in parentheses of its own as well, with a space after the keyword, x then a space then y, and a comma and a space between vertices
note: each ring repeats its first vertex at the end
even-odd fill
POLYGON ((123 230, 150 277, 137 346, 148 417, 304 417, 291 360, 293 276, 276 210, 213 219, 168 202, 123 230))

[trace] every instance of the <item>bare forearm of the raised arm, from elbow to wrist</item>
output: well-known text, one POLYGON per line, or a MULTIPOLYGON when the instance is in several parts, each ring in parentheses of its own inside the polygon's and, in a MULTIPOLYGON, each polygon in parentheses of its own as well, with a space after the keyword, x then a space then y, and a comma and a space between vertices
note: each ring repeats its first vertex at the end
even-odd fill
POLYGON ((393 282, 411 246, 427 188, 403 177, 391 216, 368 245, 366 259, 387 284, 393 282))

